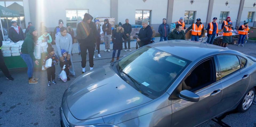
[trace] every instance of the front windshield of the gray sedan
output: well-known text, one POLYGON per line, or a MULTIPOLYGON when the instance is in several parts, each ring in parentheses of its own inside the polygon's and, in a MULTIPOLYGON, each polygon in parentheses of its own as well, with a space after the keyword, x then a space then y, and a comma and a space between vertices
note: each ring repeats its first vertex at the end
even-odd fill
POLYGON ((156 48, 145 46, 119 60, 119 70, 136 81, 139 89, 161 96, 190 62, 156 48))

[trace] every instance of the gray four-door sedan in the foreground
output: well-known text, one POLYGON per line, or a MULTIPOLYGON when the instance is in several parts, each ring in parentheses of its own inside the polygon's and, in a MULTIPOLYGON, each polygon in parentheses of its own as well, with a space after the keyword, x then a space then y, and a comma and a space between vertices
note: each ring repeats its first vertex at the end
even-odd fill
POLYGON ((256 59, 219 46, 170 40, 78 77, 65 91, 71 127, 197 126, 255 98, 256 59))

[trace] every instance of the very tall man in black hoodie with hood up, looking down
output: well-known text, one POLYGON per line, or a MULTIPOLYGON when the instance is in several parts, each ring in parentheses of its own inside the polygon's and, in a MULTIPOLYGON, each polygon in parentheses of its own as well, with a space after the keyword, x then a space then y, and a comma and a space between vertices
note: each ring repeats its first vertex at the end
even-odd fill
MULTIPOLYGON (((90 70, 93 69, 93 56, 95 50, 96 39, 98 38, 97 27, 94 22, 91 22, 93 17, 85 13, 83 21, 77 25, 77 39, 80 43, 81 58, 82 58, 82 74, 85 73, 86 54, 89 53, 90 70)), ((110 28, 111 30, 111 28, 110 28)), ((106 43, 106 42, 105 42, 106 43)))

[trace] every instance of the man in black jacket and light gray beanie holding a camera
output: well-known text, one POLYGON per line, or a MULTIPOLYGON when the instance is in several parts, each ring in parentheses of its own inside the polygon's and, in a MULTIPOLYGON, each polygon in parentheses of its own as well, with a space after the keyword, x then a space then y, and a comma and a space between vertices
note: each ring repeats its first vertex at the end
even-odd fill
POLYGON ((148 25, 149 21, 147 19, 144 19, 142 21, 142 28, 139 30, 139 35, 137 38, 137 42, 139 44, 139 47, 145 46, 147 44, 150 44, 153 31, 151 27, 148 25))

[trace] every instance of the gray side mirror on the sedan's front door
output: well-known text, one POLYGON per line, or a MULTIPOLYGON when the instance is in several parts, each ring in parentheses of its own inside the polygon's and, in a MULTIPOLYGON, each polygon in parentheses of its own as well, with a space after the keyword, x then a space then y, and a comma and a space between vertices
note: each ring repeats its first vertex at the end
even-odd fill
POLYGON ((191 102, 198 102, 200 99, 200 97, 197 94, 188 90, 181 91, 179 93, 179 98, 184 99, 186 101, 191 101, 191 102))

